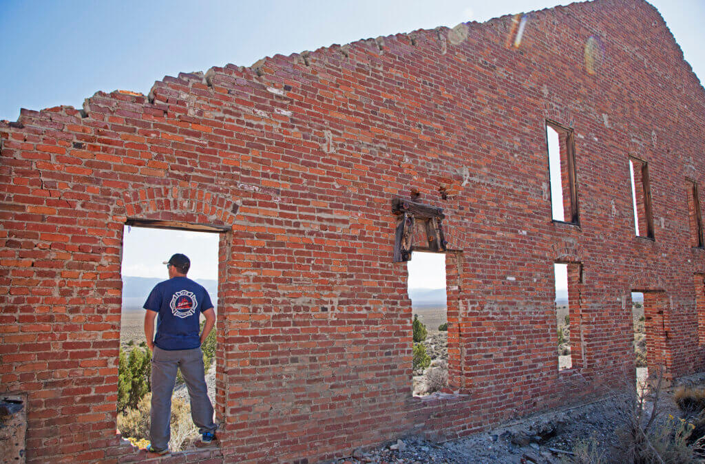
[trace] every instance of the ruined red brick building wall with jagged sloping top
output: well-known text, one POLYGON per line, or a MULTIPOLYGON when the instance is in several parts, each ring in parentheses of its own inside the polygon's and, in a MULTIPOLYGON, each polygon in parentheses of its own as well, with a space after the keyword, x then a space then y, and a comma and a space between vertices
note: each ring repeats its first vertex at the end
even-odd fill
POLYGON ((25 398, 27 462, 144 458, 116 435, 125 224, 221 235, 221 443, 166 460, 312 463, 595 398, 633 375, 632 291, 649 367, 705 368, 705 92, 642 0, 180 74, 0 140, 0 393, 25 398), (427 398, 405 240, 446 254, 450 388, 427 398))

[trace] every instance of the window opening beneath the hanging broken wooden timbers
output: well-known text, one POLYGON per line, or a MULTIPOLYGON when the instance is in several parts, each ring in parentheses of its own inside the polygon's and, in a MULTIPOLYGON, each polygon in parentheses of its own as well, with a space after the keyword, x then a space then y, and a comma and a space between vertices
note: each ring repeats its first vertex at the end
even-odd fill
POLYGON ((412 394, 448 387, 448 293, 446 255, 414 251, 407 262, 412 302, 412 394))

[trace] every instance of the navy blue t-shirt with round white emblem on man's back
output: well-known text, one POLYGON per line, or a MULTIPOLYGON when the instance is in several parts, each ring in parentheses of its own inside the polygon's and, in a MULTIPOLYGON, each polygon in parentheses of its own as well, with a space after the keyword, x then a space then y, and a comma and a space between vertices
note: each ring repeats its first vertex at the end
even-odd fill
POLYGON ((145 310, 158 312, 154 345, 162 350, 201 346, 199 316, 213 307, 208 291, 188 277, 159 282, 149 293, 145 310))

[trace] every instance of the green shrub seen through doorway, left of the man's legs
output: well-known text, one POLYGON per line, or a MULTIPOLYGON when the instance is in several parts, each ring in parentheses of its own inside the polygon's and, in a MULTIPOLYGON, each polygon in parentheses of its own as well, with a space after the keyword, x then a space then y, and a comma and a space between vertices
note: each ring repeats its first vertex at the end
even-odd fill
POLYGON ((118 355, 118 412, 137 408, 137 403, 152 389, 152 353, 133 348, 127 355, 121 348, 118 355))

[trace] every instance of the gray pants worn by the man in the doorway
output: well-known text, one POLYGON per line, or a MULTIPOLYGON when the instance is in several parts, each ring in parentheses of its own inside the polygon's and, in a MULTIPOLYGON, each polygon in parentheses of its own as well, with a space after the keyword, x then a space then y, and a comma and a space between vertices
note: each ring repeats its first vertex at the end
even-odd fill
POLYGON ((180 369, 191 398, 191 418, 198 432, 215 432, 213 405, 208 398, 208 388, 203 372, 201 348, 192 350, 162 350, 155 346, 152 354, 152 422, 149 438, 157 449, 168 447, 171 430, 171 394, 176 381, 176 370, 180 369))

